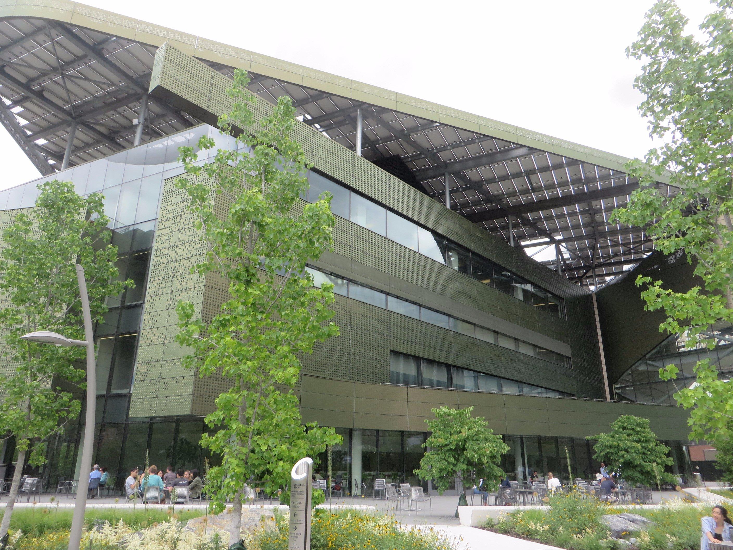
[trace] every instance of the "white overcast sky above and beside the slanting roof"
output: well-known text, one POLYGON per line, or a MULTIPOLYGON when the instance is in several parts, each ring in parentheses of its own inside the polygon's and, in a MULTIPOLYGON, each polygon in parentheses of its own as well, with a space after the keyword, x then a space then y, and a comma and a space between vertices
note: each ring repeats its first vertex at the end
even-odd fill
MULTIPOLYGON (((625 48, 652 0, 88 3, 619 155, 651 144, 625 48)), ((0 188, 38 175, 3 128, 0 158, 0 188)))

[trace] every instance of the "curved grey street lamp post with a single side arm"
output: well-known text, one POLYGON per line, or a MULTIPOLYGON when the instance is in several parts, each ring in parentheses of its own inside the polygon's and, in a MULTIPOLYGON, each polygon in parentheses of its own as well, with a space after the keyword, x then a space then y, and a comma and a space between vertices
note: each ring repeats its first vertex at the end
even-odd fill
POLYGON ((89 491, 89 472, 92 470, 92 450, 94 449, 95 405, 97 400, 97 364, 95 361, 94 336, 92 334, 92 312, 89 310, 89 295, 86 293, 86 279, 84 268, 76 264, 76 279, 79 282, 81 295, 81 312, 84 316, 85 340, 70 340, 67 337, 51 331, 31 332, 22 336, 23 340, 43 342, 45 344, 82 345, 86 347, 86 419, 84 420, 84 442, 81 447, 81 474, 76 491, 74 515, 69 533, 69 550, 78 550, 81 547, 81 531, 84 528, 84 510, 86 508, 86 493, 89 491))

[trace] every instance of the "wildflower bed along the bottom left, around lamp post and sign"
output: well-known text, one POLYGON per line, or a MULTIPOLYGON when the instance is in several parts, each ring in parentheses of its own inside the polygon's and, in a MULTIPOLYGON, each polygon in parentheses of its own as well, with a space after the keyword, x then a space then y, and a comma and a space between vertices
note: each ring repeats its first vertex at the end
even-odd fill
MULTIPOLYGON (((25 511, 25 510, 24 510, 25 511)), ((15 522, 8 550, 65 550, 69 525, 66 518, 43 523, 43 513, 33 510, 15 522), (22 526, 22 527, 21 527, 22 526), (23 531, 23 528, 26 529, 23 531)), ((59 516, 62 513, 59 513, 59 516)), ((178 516, 172 510, 137 510, 133 513, 95 513, 86 518, 84 550, 226 550, 228 533, 207 527, 185 529, 185 521, 201 513, 178 516), (145 515, 147 513, 147 516, 145 515)), ((287 550, 288 516, 275 514, 275 524, 246 534, 248 550, 287 550)), ((430 529, 405 528, 381 514, 314 510, 312 550, 451 550, 449 540, 430 529)))

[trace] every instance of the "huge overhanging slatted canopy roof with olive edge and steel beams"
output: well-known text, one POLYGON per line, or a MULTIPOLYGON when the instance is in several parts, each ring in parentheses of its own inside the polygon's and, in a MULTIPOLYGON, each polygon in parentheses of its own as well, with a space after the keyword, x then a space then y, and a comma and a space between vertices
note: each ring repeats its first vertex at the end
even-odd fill
POLYGON ((0 122, 44 174, 72 125, 70 166, 130 147, 144 101, 144 141, 194 125, 144 95, 166 41, 221 73, 248 70, 253 92, 290 95, 305 122, 352 150, 361 111, 365 158, 399 155, 441 202, 447 173, 453 210, 507 240, 511 216, 517 243, 561 243, 581 285, 652 249, 643 229, 608 221, 637 186, 627 158, 74 2, 0 0, 0 122))

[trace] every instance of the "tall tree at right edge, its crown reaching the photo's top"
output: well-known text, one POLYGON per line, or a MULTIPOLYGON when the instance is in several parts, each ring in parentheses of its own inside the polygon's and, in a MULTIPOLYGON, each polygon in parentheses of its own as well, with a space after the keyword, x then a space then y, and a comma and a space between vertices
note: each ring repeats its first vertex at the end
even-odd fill
MULTIPOLYGON (((649 276, 637 285, 649 310, 662 309, 660 331, 683 333, 690 348, 715 348, 713 336, 733 322, 733 7, 713 2, 696 40, 685 34, 688 19, 674 1, 661 0, 647 13, 638 40, 627 53, 644 61, 635 87, 646 96, 639 111, 649 121, 650 135, 664 144, 629 173, 640 188, 616 221, 645 227, 655 249, 684 251, 695 266, 699 284, 674 292, 649 276), (655 180, 667 175, 671 192, 655 180)), ((695 384, 675 381, 672 364, 660 370, 677 386, 677 402, 690 409, 691 439, 730 438, 733 433, 733 391, 718 369, 704 359, 695 367, 695 384)))

